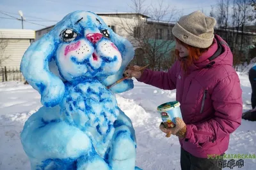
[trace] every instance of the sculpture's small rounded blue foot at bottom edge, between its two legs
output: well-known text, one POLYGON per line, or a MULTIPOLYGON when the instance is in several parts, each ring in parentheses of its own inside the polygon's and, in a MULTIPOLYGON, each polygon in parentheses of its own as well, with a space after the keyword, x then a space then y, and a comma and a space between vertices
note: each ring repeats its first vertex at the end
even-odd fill
POLYGON ((92 153, 77 159, 77 170, 111 170, 108 164, 97 153, 92 153))

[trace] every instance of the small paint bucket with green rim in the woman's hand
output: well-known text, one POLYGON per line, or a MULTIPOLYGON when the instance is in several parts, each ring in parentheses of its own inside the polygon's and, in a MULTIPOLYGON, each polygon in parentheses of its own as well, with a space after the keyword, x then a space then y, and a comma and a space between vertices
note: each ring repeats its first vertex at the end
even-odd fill
POLYGON ((175 118, 182 118, 179 101, 171 101, 157 107, 163 120, 164 127, 175 127, 175 118))

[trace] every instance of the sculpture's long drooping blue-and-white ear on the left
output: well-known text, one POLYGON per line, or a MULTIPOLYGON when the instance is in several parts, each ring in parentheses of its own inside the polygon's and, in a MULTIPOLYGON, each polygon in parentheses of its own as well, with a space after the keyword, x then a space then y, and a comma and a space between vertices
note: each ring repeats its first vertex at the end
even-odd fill
POLYGON ((49 62, 58 47, 54 36, 54 32, 49 32, 31 44, 20 63, 24 78, 40 93, 41 103, 46 107, 59 104, 65 93, 63 81, 49 71, 49 62))

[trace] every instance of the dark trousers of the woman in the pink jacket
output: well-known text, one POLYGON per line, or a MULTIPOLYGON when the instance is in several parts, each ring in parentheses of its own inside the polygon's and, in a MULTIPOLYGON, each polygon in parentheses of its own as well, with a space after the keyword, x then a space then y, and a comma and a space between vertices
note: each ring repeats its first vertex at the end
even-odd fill
POLYGON ((182 170, 221 170, 218 159, 198 158, 183 148, 180 150, 180 166, 182 170))

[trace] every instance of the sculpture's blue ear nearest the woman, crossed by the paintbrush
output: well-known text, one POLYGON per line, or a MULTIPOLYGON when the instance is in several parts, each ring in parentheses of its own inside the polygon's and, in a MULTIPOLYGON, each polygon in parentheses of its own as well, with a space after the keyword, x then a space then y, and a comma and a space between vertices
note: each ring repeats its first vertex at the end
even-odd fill
MULTIPOLYGON (((120 78, 123 78, 125 68, 128 66, 129 62, 131 62, 131 60, 134 57, 134 48, 131 42, 123 38, 122 36, 118 36, 118 34, 115 34, 115 32, 113 32, 112 30, 110 30, 109 32, 110 40, 116 45, 116 47, 122 55, 122 65, 116 74, 108 76, 108 78, 106 78, 103 81, 104 85, 106 86, 115 83, 120 78)), ((116 84, 115 86, 111 87, 110 90, 112 90, 115 93, 121 93, 127 90, 131 90, 133 89, 133 87, 133 80, 129 79, 116 84)))

